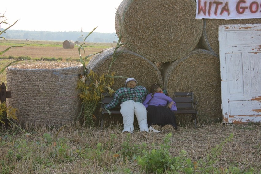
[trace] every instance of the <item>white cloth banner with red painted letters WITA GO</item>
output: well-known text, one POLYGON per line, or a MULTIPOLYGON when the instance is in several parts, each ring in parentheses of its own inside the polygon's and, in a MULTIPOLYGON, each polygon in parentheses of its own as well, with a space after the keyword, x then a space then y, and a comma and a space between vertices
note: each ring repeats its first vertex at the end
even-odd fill
POLYGON ((261 18, 261 0, 197 0, 196 18, 261 18))

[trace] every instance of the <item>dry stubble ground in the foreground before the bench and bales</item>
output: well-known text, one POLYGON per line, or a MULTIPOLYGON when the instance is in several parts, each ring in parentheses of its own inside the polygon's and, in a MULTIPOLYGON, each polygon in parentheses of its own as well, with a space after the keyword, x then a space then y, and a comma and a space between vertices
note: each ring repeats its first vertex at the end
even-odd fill
POLYGON ((133 134, 121 133, 122 127, 112 125, 100 130, 69 124, 59 130, 37 125, 25 127, 27 135, 20 129, 13 128, 16 134, 2 130, 0 171, 8 173, 12 166, 10 173, 151 173, 142 170, 137 156, 142 149, 149 153, 159 149, 168 133, 172 134, 168 154, 178 157, 185 151, 184 158, 196 164, 192 167, 193 173, 202 172, 204 166, 200 161, 207 163, 208 156, 210 161, 205 169, 216 167, 216 173, 227 173, 225 169, 229 167, 229 173, 235 173, 231 171, 236 167, 241 171, 236 173, 245 173, 252 168, 255 172, 250 173, 258 174, 261 168, 260 124, 223 126, 210 123, 198 125, 197 129, 187 125, 178 127, 178 131, 161 133, 138 132, 136 127, 133 134), (233 138, 225 141, 230 134, 233 138), (220 152, 211 156, 213 149, 221 144, 220 152))

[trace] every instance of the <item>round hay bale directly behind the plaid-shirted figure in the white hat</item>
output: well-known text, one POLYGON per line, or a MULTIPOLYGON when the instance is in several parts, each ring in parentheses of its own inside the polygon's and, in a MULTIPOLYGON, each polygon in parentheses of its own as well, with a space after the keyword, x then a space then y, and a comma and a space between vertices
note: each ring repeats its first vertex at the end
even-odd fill
MULTIPOLYGON (((115 47, 112 47, 96 54, 90 60, 87 68, 93 70, 98 75, 106 74, 112 62, 114 50, 115 47)), ((138 81, 138 85, 145 86, 147 89, 149 89, 152 83, 162 84, 161 73, 153 62, 125 47, 120 47, 117 50, 117 54, 120 55, 112 65, 110 72, 115 72, 116 76, 135 78, 138 81)), ((116 78, 112 89, 117 90, 123 87, 125 81, 126 78, 116 78)))

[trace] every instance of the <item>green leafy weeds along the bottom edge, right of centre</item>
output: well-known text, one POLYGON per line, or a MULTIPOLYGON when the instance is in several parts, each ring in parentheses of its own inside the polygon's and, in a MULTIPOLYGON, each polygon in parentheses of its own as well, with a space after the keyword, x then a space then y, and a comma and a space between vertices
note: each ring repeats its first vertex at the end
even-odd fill
POLYGON ((225 143, 233 141, 233 134, 225 138, 223 142, 216 145, 211 149, 211 152, 206 155, 206 158, 192 161, 187 157, 187 152, 181 150, 178 156, 172 157, 169 153, 172 134, 169 133, 163 139, 163 143, 159 145, 159 149, 156 149, 155 145, 152 145, 152 149, 143 152, 142 156, 138 157, 138 165, 146 171, 146 173, 252 173, 254 170, 250 168, 248 171, 242 171, 235 166, 229 166, 229 168, 221 168, 214 164, 219 161, 221 155, 222 146, 225 143))

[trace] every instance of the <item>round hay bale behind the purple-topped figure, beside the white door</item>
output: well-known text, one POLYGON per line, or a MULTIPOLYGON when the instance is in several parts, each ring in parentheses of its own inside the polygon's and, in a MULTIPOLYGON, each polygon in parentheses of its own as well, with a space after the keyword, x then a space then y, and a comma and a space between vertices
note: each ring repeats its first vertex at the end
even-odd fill
POLYGON ((168 64, 162 71, 168 93, 193 92, 201 120, 217 121, 222 117, 219 57, 213 52, 195 49, 168 64))

